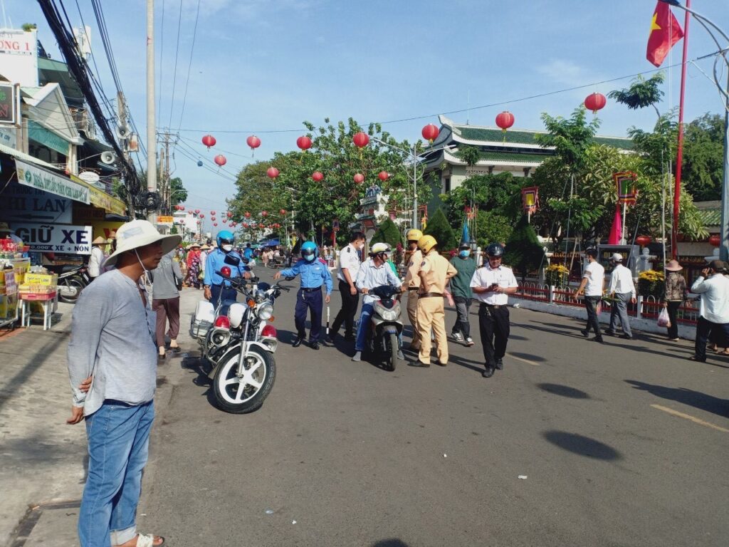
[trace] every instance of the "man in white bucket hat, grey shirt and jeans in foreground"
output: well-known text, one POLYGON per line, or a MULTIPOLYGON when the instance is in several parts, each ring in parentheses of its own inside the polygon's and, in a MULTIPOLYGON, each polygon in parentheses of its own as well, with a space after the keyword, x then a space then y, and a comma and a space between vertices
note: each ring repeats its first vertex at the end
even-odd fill
POLYGON ((140 535, 136 506, 155 417, 155 313, 139 280, 157 268, 180 236, 163 236, 147 220, 117 230, 116 268, 85 287, 74 307, 68 362, 69 424, 86 422, 89 468, 79 511, 82 547, 159 547, 140 535))

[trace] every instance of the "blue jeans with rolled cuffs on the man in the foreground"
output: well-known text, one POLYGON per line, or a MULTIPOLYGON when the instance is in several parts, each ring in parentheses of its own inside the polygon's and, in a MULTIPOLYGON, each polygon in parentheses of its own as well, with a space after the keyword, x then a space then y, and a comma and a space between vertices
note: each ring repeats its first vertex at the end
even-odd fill
POLYGON ((82 547, 119 545, 136 536, 141 472, 154 419, 152 401, 128 406, 105 400, 86 417, 89 471, 79 511, 82 547))

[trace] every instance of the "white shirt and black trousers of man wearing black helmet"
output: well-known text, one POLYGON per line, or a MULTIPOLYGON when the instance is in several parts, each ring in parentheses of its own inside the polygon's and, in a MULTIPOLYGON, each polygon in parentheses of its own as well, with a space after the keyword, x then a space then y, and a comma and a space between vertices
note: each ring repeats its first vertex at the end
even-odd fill
MULTIPOLYGON (((514 272, 511 268, 499 265, 491 268, 486 260, 483 268, 478 268, 471 279, 471 287, 518 287, 514 272)), ((474 292, 473 298, 480 301, 478 308, 478 327, 483 346, 483 358, 486 360, 486 369, 502 368, 501 360, 506 354, 506 344, 509 341, 509 295, 501 292, 474 292)))

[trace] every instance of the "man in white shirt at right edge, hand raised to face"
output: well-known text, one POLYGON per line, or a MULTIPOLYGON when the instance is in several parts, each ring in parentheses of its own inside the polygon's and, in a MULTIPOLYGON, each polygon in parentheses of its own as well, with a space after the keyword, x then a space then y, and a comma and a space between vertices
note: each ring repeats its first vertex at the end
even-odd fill
POLYGON ((712 260, 691 285, 691 292, 701 295, 692 361, 706 361, 706 341, 712 329, 723 330, 729 339, 729 278, 724 276, 724 268, 721 260, 712 260))

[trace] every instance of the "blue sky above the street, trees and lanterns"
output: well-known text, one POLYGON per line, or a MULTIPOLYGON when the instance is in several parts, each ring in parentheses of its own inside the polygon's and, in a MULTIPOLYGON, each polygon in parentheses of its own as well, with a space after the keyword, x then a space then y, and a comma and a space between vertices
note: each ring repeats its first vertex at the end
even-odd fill
MULTIPOLYGON (((180 1, 155 1, 158 85, 160 70, 162 78, 158 125, 179 128, 195 161, 199 155, 209 163, 218 150, 228 151, 222 153, 230 174, 252 161, 246 136, 256 133, 262 140, 255 160, 270 158, 296 149, 303 120, 319 125, 324 117, 354 117, 364 125, 420 117, 384 125, 397 139, 412 141, 423 125, 437 124, 437 114, 470 106, 469 112, 448 116, 494 126, 494 117, 509 109, 515 128, 538 130, 542 112, 569 116, 589 93, 623 88, 632 74, 650 76, 654 68, 645 59, 654 0, 200 0, 194 50, 198 0, 182 0, 181 19, 180 1), (625 79, 592 85, 620 77, 625 79), (588 88, 518 101, 581 85, 588 88), (511 102, 476 108, 505 101, 511 102), (267 133, 285 130, 295 131, 267 133), (217 139, 210 152, 200 144, 205 132, 217 139)), ((71 23, 79 24, 76 1, 65 4, 71 23)), ((90 0, 78 4, 92 27, 104 88, 114 96, 90 0)), ((144 138, 146 1, 104 0, 103 5, 122 86, 144 138)), ((35 1, 4 0, 4 7, 14 26, 37 23, 44 47, 61 57, 35 1)), ((692 7, 729 32, 725 2, 694 0, 692 7)), ((682 13, 676 15, 683 26, 682 13)), ((664 65, 680 62, 681 44, 664 65)), ((692 22, 689 58, 714 50, 706 31, 692 22)), ((688 69, 687 121, 722 112, 714 83, 699 70, 709 74, 712 61, 697 64, 688 69)), ((662 110, 678 104, 679 67, 667 72, 662 110)), ((631 125, 652 128, 655 112, 629 111, 609 101, 599 118, 601 134, 625 136, 631 125)), ((198 168, 195 161, 176 150, 174 175, 190 191, 187 206, 224 209, 225 198, 234 193, 231 175, 198 168)))

